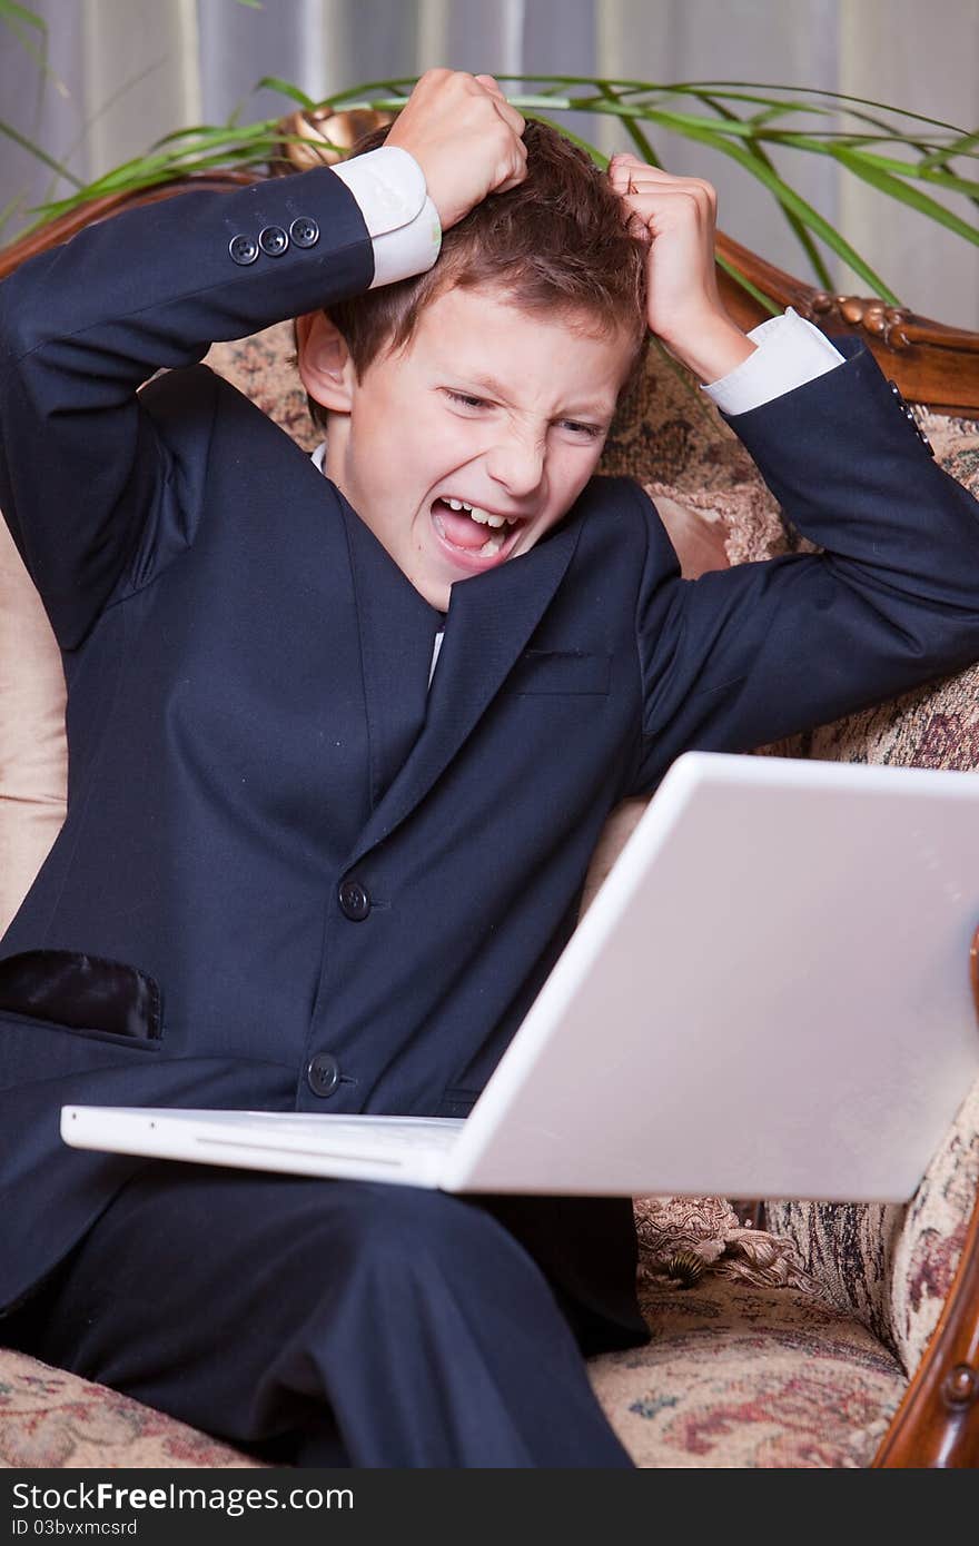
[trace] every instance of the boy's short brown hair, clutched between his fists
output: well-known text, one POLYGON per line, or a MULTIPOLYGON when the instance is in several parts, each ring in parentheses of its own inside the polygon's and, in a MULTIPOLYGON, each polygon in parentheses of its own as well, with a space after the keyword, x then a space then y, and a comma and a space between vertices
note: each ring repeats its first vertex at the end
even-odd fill
MULTIPOLYGON (((388 130, 365 135, 351 155, 376 150, 388 130)), ((521 311, 631 335, 636 352, 623 391, 634 385, 648 340, 646 246, 626 230, 619 195, 583 150, 537 121, 527 122, 523 139, 524 181, 490 193, 444 232, 433 267, 325 308, 359 377, 382 351, 408 343, 424 308, 445 289, 493 284, 521 311)), ((325 410, 311 399, 309 413, 326 425, 325 410)))

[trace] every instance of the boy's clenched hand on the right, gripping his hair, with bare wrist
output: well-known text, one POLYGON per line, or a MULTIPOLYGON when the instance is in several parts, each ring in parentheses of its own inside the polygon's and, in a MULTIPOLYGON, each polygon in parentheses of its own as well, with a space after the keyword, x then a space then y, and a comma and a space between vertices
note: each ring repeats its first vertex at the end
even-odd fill
POLYGON ((609 181, 629 230, 648 243, 646 320, 668 351, 702 382, 716 382, 753 354, 718 292, 718 195, 702 178, 679 178, 637 156, 612 156, 609 181))

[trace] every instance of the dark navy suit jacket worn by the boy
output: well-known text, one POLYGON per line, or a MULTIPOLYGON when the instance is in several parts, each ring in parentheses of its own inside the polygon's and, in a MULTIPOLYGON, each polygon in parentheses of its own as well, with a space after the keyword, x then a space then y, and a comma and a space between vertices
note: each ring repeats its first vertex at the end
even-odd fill
POLYGON ((0 943, 0 1305, 141 1163, 67 1149, 62 1102, 462 1115, 617 801, 979 657, 979 507, 843 345, 732 421, 823 555, 684 581, 650 499, 595 478, 453 586, 428 693, 441 617, 195 363, 371 275, 320 169, 116 216, 0 286, 0 507, 70 736, 63 830, 0 943), (303 218, 312 244, 232 261, 303 218), (104 963, 141 974, 122 1022, 104 963))

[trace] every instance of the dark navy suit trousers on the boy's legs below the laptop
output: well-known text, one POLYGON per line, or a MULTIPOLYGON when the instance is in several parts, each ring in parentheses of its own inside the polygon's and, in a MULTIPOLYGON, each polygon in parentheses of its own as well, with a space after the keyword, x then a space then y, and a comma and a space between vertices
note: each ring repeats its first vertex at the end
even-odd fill
POLYGON ((634 1283, 628 1198, 156 1161, 0 1340, 274 1464, 631 1467, 582 1354, 634 1283))

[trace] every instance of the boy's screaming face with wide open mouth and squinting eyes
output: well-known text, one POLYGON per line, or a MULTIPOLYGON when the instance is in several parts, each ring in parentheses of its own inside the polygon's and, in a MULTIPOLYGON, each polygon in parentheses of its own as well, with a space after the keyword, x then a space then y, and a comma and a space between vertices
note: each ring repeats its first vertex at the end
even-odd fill
POLYGON ((346 360, 343 408, 325 402, 326 473, 444 612, 456 580, 526 553, 571 509, 631 357, 626 337, 529 315, 495 288, 444 291, 401 352, 360 380, 346 360))

